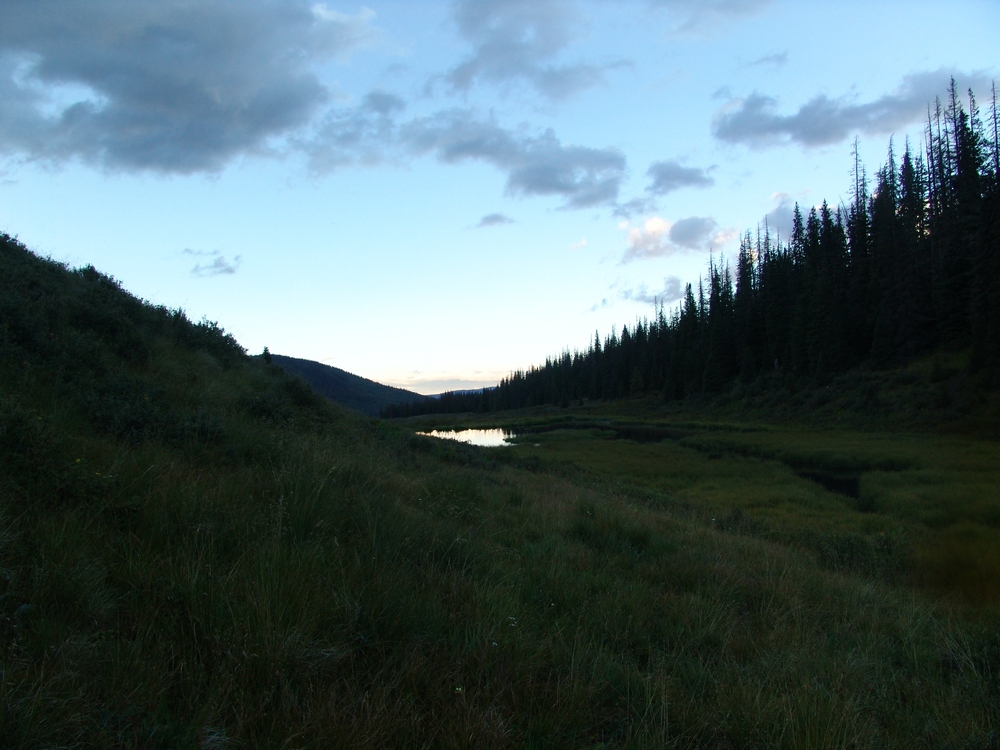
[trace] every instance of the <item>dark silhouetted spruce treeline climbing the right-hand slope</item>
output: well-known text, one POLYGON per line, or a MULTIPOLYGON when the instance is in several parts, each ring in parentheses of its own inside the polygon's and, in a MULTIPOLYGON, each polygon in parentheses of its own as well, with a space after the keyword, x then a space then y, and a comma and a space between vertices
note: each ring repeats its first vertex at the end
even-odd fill
POLYGON ((735 267, 710 261, 678 307, 624 326, 585 352, 563 352, 482 393, 387 407, 385 417, 496 411, 658 392, 718 392, 779 373, 822 382, 939 347, 969 348, 1000 372, 1000 123, 952 81, 928 109, 921 153, 907 142, 871 188, 854 149, 850 205, 796 206, 791 237, 765 226, 741 240, 735 267))

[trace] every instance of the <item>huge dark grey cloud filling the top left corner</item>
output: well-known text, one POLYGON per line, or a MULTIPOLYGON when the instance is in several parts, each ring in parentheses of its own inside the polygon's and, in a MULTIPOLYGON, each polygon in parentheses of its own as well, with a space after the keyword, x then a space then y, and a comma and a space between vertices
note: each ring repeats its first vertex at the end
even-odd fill
POLYGON ((374 14, 307 0, 0 5, 0 153, 110 170, 216 171, 307 124, 312 66, 368 43, 374 14))

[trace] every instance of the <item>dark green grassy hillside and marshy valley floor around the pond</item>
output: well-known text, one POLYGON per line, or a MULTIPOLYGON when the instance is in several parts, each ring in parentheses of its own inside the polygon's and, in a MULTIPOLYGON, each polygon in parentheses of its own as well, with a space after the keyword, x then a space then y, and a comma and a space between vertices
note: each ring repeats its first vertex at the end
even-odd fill
POLYGON ((996 747, 995 442, 559 416, 421 438, 0 239, 0 747, 996 747))

